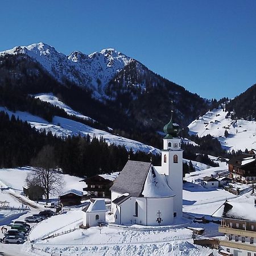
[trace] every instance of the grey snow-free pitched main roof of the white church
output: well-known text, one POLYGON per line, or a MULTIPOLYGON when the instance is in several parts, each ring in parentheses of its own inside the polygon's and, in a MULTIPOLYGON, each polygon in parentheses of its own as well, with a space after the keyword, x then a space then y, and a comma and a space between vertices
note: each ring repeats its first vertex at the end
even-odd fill
POLYGON ((128 160, 110 190, 129 193, 134 197, 142 196, 141 193, 150 167, 151 163, 128 160))

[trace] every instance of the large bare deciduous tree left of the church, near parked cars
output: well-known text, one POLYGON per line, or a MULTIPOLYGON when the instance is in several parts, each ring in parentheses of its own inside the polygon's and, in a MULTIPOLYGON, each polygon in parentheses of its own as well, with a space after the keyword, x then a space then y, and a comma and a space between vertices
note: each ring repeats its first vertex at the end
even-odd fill
POLYGON ((44 146, 35 159, 31 161, 36 169, 27 176, 28 187, 31 185, 40 185, 44 189, 44 196, 49 199, 49 194, 59 192, 63 187, 64 181, 61 175, 56 171, 56 161, 52 146, 44 146))

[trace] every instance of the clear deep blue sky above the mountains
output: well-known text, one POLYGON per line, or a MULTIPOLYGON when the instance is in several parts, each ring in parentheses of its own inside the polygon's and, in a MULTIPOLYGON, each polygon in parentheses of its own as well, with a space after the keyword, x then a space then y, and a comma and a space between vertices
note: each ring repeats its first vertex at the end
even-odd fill
POLYGON ((256 1, 2 1, 0 51, 115 48, 206 98, 256 83, 256 1))

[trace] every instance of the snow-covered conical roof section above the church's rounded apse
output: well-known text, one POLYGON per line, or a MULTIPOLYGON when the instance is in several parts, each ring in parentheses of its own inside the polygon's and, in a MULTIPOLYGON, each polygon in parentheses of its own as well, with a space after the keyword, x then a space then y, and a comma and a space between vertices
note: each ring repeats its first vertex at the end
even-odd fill
POLYGON ((142 195, 145 197, 161 198, 175 196, 175 193, 168 186, 166 180, 158 174, 154 166, 151 166, 150 171, 147 174, 147 179, 144 183, 142 195))

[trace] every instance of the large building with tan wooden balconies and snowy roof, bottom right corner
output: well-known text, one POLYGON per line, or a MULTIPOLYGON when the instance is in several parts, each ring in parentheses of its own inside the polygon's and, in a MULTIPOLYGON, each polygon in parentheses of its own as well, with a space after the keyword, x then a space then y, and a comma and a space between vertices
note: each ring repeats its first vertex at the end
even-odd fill
POLYGON ((218 232, 222 251, 233 256, 256 256, 256 208, 254 202, 234 203, 226 201, 214 214, 221 217, 218 232))

